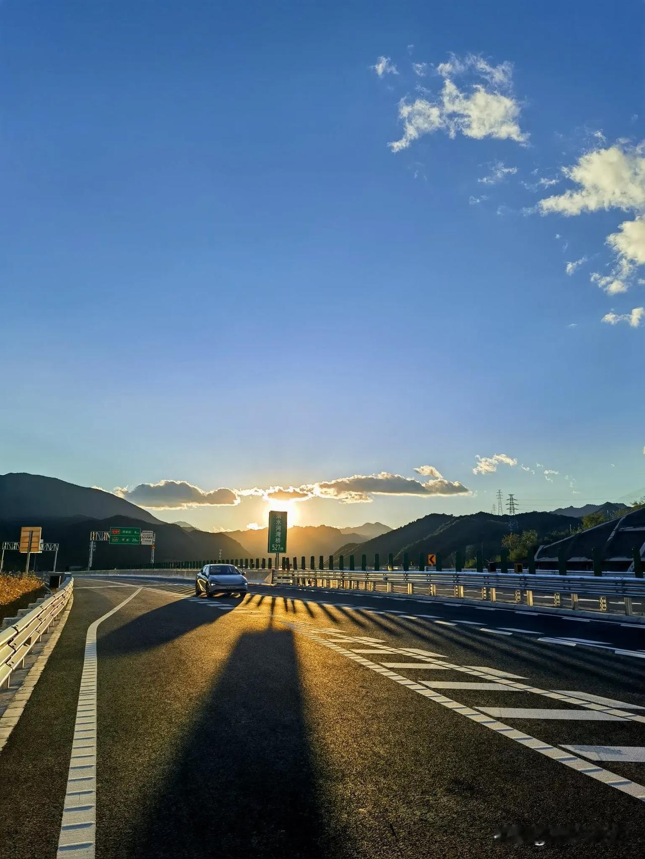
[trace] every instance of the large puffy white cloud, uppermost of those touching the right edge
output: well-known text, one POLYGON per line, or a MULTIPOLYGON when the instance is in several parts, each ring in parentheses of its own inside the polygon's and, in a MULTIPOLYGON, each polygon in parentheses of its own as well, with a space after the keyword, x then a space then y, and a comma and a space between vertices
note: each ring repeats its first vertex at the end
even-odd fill
POLYGON ((642 146, 610 146, 581 155, 562 173, 580 188, 540 200, 543 215, 580 215, 599 209, 642 210, 645 206, 645 158, 642 146))

